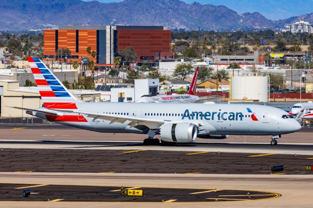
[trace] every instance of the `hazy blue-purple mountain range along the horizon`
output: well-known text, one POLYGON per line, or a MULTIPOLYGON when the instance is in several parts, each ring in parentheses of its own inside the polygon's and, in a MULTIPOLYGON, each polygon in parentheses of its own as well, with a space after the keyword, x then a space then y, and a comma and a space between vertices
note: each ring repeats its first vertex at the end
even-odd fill
POLYGON ((258 12, 238 14, 226 6, 180 0, 0 0, 0 31, 26 31, 57 25, 164 25, 187 30, 266 30, 304 20, 313 13, 271 21, 258 12))

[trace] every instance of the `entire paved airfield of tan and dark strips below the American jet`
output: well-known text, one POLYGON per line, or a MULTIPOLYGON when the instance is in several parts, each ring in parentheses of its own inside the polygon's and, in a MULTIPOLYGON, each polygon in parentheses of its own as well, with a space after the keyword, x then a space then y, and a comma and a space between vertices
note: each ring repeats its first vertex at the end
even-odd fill
POLYGON ((41 195, 34 194, 22 202, 1 201, 1 207, 49 208, 57 203, 57 207, 64 208, 294 208, 312 207, 313 203, 313 172, 305 170, 305 166, 313 165, 310 131, 283 135, 277 146, 269 145, 270 136, 230 136, 225 140, 198 138, 190 144, 144 146, 142 141, 146 135, 137 134, 113 135, 67 127, 27 126, 7 126, 0 131, 0 169, 3 171, 0 173, 0 192, 12 193, 10 200, 15 201, 14 197, 22 194, 16 191, 13 194, 16 187, 45 185, 30 187, 32 192, 41 195), (275 165, 284 165, 284 171, 271 174, 270 168, 275 165), (78 186, 83 186, 79 187, 81 191, 78 186), (139 187, 147 190, 147 196, 151 198, 150 201, 136 199, 135 203, 114 201, 120 196, 107 195, 106 187, 139 187), (171 190, 155 194, 160 188, 171 190), (193 189, 235 192, 217 191, 216 195, 207 192, 197 197, 198 201, 193 201, 195 198, 190 198, 188 192, 193 189), (49 191, 52 203, 46 200, 49 191), (279 197, 254 201, 236 198, 238 195, 246 197, 246 191, 274 193, 279 197), (104 196, 108 199, 104 200, 104 196), (227 197, 229 200, 223 202, 227 197), (163 198, 164 201, 176 201, 163 203, 163 198), (62 200, 53 201, 59 199, 62 200))

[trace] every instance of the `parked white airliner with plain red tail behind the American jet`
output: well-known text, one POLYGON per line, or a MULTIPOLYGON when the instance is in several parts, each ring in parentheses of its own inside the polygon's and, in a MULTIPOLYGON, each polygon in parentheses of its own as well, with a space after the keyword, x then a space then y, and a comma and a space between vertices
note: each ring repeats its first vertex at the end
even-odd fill
POLYGON ((172 95, 157 95, 157 96, 142 96, 136 103, 193 103, 199 100, 199 97, 194 95, 196 91, 199 66, 197 66, 195 75, 187 94, 172 94, 172 95))

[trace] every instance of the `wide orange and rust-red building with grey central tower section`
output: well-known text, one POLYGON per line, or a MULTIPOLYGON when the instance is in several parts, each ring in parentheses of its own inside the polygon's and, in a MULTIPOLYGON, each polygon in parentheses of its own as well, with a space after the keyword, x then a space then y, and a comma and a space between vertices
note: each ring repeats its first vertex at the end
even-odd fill
MULTIPOLYGON (((171 31, 163 26, 59 26, 58 30, 44 30, 45 58, 58 58, 58 51, 68 48, 67 59, 81 61, 89 57, 96 63, 112 64, 121 49, 133 47, 137 62, 173 60, 171 31), (95 58, 87 47, 96 51, 95 58)), ((63 55, 62 55, 63 56, 63 55)), ((64 57, 64 56, 63 56, 64 57)))

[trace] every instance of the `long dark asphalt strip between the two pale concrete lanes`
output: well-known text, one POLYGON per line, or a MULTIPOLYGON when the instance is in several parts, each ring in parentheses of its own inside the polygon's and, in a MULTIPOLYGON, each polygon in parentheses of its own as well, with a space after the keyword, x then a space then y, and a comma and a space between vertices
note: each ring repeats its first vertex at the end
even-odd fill
POLYGON ((0 158, 3 172, 271 174, 271 166, 284 165, 278 174, 313 174, 305 169, 313 156, 277 153, 6 148, 0 158))

